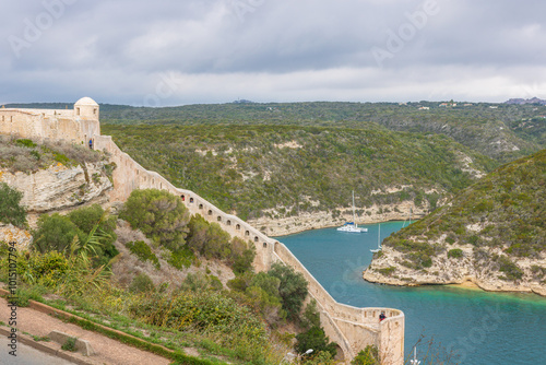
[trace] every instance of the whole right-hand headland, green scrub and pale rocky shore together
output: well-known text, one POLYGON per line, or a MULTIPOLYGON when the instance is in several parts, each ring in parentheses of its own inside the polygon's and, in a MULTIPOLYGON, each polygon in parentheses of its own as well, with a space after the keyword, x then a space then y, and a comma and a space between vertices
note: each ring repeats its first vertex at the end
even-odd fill
POLYGON ((471 280, 546 295, 546 150, 499 167, 450 204, 383 242, 365 279, 471 280))

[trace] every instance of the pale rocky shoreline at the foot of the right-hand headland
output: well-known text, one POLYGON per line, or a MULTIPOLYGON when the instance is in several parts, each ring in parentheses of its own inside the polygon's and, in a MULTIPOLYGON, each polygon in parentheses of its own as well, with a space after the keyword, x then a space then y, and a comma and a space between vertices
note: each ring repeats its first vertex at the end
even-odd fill
MULTIPOLYGON (((462 257, 449 258, 448 250, 432 260, 432 266, 415 270, 404 264, 402 252, 383 246, 381 254, 376 254, 371 264, 363 276, 372 283, 399 286, 448 285, 472 283, 490 292, 526 292, 546 296, 546 282, 534 268, 546 268, 546 257, 521 258, 518 267, 523 272, 521 280, 507 280, 495 262, 476 260, 472 245, 452 245, 449 249, 461 249, 462 257)), ((501 254, 500 249, 491 249, 488 255, 501 254)))

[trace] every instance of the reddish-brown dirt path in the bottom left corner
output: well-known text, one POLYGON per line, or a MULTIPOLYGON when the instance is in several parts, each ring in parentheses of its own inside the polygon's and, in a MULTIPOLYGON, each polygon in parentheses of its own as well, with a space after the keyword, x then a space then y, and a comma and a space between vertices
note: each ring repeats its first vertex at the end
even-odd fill
MULTIPOLYGON (((165 357, 122 344, 105 335, 84 330, 72 323, 66 323, 60 319, 29 308, 17 308, 16 314, 16 327, 19 332, 28 332, 34 335, 44 337, 52 330, 57 330, 72 337, 90 341, 96 352, 96 355, 91 357, 81 356, 82 358, 92 360, 97 364, 167 365, 170 363, 170 361, 165 357)), ((9 317, 10 309, 8 307, 8 302, 0 297, 0 320, 8 323, 9 317)))

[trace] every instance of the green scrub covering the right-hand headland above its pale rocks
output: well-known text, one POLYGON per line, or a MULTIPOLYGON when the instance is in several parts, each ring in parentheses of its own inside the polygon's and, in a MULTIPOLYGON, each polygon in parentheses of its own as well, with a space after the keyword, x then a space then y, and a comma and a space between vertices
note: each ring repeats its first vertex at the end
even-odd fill
MULTIPOLYGON (((449 258, 462 258, 460 249, 450 248, 453 244, 472 245, 475 261, 494 262, 506 280, 523 276, 520 258, 537 259, 546 250, 546 150, 497 168, 461 191, 449 207, 383 242, 404 252, 405 266, 415 269, 429 267, 446 250, 449 258)), ((532 270, 546 279, 546 268, 532 270)))

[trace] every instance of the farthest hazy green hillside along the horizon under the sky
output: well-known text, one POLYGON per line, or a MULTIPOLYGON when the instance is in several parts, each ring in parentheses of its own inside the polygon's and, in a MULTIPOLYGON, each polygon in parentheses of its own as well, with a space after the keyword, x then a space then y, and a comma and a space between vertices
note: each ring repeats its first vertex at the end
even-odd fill
MULTIPOLYGON (((242 102, 242 101, 241 101, 242 102)), ((7 107, 64 108, 71 104, 7 107)), ((228 103, 179 107, 100 105, 105 123, 251 125, 381 128, 448 136, 480 154, 510 162, 546 148, 546 106, 486 103, 228 103), (419 107, 429 109, 419 110, 419 107)))

